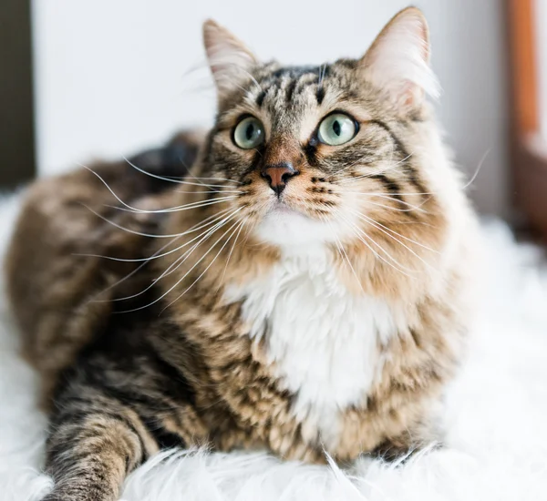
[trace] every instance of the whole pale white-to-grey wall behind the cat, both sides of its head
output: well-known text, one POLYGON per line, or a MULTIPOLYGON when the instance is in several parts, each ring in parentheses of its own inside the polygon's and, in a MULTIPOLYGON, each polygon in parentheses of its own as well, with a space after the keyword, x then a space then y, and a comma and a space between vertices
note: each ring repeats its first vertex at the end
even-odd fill
MULTIPOLYGON (((207 126, 214 94, 201 23, 214 17, 263 58, 319 64, 360 56, 408 0, 34 0, 41 173, 119 158, 181 127, 207 126), (192 67, 200 67, 188 74, 192 67)), ((421 0, 439 117, 481 210, 508 200, 506 46, 501 0, 421 0)))

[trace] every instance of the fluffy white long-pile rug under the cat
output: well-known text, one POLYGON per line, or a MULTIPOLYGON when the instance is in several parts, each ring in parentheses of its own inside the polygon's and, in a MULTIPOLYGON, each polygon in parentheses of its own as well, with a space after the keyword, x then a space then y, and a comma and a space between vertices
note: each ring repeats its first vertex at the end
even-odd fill
MULTIPOLYGON (((0 256, 17 212, 0 201, 0 256)), ((126 501, 547 499, 547 270, 541 252, 484 222, 486 289, 470 356, 449 389, 447 447, 406 465, 362 459, 351 471, 266 454, 174 451, 130 476, 126 501)), ((38 501, 46 420, 36 377, 17 357, 0 297, 0 500, 38 501)))

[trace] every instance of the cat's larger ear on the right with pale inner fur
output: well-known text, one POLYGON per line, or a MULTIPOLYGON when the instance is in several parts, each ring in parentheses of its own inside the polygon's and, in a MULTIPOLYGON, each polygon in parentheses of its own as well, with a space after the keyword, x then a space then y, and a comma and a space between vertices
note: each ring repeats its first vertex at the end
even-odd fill
POLYGON ((366 80, 387 92, 397 107, 418 107, 425 94, 439 96, 429 52, 426 18, 418 8, 408 7, 387 23, 359 67, 366 80))

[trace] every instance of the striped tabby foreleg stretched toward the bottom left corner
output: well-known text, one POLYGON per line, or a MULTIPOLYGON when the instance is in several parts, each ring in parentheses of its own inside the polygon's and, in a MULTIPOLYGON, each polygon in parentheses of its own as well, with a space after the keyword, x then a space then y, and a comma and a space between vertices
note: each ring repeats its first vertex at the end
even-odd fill
POLYGON ((46 444, 55 487, 45 501, 115 501, 129 472, 158 445, 139 415, 115 398, 88 386, 68 393, 46 444))

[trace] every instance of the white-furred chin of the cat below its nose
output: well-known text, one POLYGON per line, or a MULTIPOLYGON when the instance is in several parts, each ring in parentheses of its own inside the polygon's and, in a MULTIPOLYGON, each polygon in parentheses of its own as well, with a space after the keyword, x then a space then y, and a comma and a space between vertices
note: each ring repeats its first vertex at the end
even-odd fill
POLYGON ((270 210, 256 227, 256 236, 285 248, 335 241, 332 227, 284 204, 270 210))

